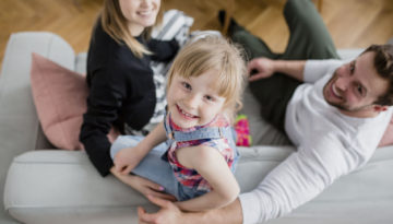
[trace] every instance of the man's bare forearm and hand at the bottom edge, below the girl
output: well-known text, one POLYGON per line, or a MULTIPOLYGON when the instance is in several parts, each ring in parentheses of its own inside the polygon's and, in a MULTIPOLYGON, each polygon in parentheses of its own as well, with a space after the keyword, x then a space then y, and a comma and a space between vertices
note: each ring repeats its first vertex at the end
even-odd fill
POLYGON ((206 212, 186 213, 181 212, 172 202, 147 197, 148 200, 162 209, 157 213, 146 213, 138 208, 140 224, 241 224, 242 214, 239 199, 227 207, 210 210, 206 212))

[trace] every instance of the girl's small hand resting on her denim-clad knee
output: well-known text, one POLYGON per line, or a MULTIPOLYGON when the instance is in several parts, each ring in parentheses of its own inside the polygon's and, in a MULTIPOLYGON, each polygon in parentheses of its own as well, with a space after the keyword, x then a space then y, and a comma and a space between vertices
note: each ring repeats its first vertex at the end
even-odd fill
POLYGON ((114 157, 116 172, 123 175, 130 174, 145 156, 145 152, 138 145, 120 150, 114 157))

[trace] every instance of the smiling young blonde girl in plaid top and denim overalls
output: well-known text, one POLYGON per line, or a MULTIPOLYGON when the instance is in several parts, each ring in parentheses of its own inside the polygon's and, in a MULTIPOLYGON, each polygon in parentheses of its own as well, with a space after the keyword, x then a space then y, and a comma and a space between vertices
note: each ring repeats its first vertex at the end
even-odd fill
POLYGON ((230 125, 240 106, 243 74, 239 49, 224 38, 207 36, 186 45, 169 70, 165 120, 140 142, 118 139, 111 148, 115 168, 165 186, 184 211, 234 201, 238 154, 230 125), (126 148, 130 145, 135 146, 126 148), (163 148, 168 163, 160 160, 163 148))

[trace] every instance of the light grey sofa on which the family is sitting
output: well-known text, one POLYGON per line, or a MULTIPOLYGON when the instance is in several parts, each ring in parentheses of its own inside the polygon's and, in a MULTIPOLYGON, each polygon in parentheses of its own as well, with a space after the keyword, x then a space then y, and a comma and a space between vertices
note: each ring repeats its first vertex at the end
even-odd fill
MULTIPOLYGON (((148 204, 141 194, 112 176, 102 178, 84 152, 53 150, 43 134, 31 94, 32 52, 85 72, 85 54, 75 55, 55 34, 26 32, 10 37, 0 74, 0 190, 4 192, 0 223, 136 223, 136 205, 148 204)), ((341 51, 345 58, 358 52, 341 51)), ((248 95, 245 113, 254 143, 285 144, 285 138, 261 120, 258 111, 248 95)), ((293 150, 283 145, 240 149, 236 177, 241 191, 253 189, 293 150)), ((392 170, 393 146, 378 149, 360 170, 269 223, 393 223, 392 170)))

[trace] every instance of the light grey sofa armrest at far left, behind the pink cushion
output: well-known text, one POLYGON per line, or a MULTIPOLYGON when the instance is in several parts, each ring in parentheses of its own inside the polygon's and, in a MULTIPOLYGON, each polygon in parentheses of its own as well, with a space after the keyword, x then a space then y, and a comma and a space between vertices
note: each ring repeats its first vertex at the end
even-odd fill
MULTIPOLYGON (((38 122, 31 90, 32 52, 74 68, 73 49, 59 36, 44 32, 12 34, 0 74, 0 192, 12 158, 26 151, 48 146, 38 122)), ((2 193, 0 196, 2 201, 2 193)), ((3 215, 0 205, 0 223, 3 215)))

